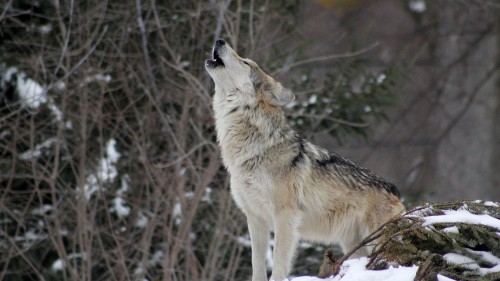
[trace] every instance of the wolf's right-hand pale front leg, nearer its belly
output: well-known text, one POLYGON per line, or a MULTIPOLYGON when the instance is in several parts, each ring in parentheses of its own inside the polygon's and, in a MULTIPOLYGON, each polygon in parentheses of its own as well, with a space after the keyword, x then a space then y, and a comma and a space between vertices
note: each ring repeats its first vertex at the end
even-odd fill
POLYGON ((293 210, 278 210, 274 217, 273 281, 287 279, 299 240, 300 217, 293 210))

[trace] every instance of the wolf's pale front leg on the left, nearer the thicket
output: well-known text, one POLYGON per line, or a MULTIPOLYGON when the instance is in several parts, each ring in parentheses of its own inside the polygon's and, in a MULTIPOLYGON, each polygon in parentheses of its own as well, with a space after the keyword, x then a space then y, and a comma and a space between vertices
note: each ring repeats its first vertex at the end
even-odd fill
POLYGON ((252 244, 252 281, 267 281, 266 252, 269 247, 269 226, 262 218, 247 215, 252 244))

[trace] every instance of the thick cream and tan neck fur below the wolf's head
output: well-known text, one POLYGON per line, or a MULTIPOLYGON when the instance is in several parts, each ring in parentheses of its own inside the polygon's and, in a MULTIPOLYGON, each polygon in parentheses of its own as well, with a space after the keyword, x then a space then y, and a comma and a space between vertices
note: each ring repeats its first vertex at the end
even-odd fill
POLYGON ((213 101, 217 138, 225 166, 230 170, 248 162, 260 162, 269 149, 292 143, 296 132, 287 124, 281 108, 264 100, 245 100, 239 90, 216 88, 213 101))

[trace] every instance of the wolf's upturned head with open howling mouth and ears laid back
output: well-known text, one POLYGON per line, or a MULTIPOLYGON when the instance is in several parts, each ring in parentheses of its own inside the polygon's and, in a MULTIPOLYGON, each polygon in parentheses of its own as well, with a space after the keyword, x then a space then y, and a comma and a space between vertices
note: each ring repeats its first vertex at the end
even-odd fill
POLYGON ((283 106, 295 99, 293 93, 266 74, 250 59, 244 59, 222 39, 215 41, 212 59, 205 68, 215 82, 216 94, 235 95, 246 102, 283 106))

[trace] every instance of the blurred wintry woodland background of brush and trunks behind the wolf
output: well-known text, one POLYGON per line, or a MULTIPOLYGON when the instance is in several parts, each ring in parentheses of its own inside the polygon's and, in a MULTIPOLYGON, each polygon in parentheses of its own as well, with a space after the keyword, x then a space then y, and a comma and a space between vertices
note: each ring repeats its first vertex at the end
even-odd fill
MULTIPOLYGON (((496 0, 0 5, 0 280, 248 279, 203 68, 217 38, 408 207, 500 200, 496 0)), ((325 248, 301 248, 312 275, 325 248)))

